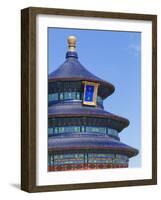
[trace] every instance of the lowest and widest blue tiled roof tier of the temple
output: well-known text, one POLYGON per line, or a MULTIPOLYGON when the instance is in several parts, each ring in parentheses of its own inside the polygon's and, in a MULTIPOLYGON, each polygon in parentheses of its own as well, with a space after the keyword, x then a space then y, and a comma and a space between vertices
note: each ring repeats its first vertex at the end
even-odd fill
POLYGON ((107 150, 117 153, 124 153, 129 157, 138 154, 138 150, 132 148, 118 140, 112 139, 108 136, 98 137, 50 137, 48 139, 48 149, 53 151, 65 151, 71 149, 84 150, 107 150))

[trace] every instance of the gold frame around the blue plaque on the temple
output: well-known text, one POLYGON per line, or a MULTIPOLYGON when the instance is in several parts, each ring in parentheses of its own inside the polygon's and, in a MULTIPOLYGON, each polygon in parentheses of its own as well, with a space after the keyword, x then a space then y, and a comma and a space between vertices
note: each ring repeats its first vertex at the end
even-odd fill
POLYGON ((97 93, 98 93, 98 86, 100 84, 95 83, 95 82, 89 82, 89 81, 83 81, 83 84, 84 84, 83 105, 97 106, 97 93), (86 85, 94 86, 94 94, 93 94, 93 101, 92 102, 85 101, 86 85))

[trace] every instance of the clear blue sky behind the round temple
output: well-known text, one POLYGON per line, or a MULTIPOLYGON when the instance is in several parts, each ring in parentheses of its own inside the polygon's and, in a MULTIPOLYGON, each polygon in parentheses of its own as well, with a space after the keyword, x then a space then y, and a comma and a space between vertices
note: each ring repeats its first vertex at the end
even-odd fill
POLYGON ((140 151, 129 166, 141 167, 141 33, 48 28, 49 73, 65 61, 69 35, 77 37, 79 61, 115 86, 104 108, 130 120, 120 138, 140 151))

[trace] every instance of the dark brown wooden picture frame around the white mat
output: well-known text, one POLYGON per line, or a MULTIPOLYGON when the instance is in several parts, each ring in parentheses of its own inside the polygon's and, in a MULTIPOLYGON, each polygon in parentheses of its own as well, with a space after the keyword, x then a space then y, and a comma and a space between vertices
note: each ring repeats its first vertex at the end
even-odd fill
POLYGON ((157 184, 157 15, 29 7, 21 10, 21 190, 46 192, 157 184), (152 22, 152 179, 36 186, 36 16, 152 22))

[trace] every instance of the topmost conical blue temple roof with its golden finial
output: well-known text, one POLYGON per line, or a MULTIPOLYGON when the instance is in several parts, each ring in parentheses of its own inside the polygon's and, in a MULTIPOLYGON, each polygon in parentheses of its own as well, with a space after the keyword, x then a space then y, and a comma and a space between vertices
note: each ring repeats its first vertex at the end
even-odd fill
POLYGON ((69 49, 66 53, 66 60, 62 65, 60 65, 60 67, 49 74, 49 83, 55 81, 91 81, 100 84, 99 87, 103 91, 103 98, 111 95, 115 90, 114 86, 89 72, 78 61, 78 54, 75 51, 75 43, 76 39, 74 39, 74 36, 70 36, 68 38, 69 49))

